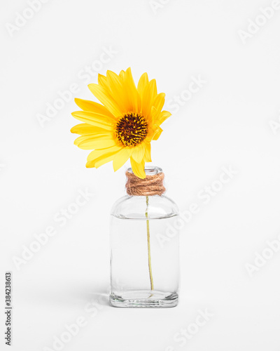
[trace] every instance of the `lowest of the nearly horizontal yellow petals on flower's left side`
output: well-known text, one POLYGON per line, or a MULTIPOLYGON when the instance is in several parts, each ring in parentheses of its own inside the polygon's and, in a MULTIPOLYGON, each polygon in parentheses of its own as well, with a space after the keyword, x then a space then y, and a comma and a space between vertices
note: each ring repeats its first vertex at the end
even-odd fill
POLYGON ((113 136, 109 133, 82 135, 74 141, 74 144, 83 150, 104 149, 116 145, 113 136))

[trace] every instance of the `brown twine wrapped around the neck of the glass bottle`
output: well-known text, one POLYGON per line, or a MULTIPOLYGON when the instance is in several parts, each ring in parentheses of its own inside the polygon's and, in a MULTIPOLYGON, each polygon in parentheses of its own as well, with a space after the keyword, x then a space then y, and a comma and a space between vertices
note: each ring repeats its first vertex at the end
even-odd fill
POLYGON ((165 192, 165 186, 163 180, 165 179, 165 173, 158 173, 153 176, 146 176, 144 179, 140 179, 133 173, 126 171, 127 183, 127 194, 134 196, 153 196, 162 195, 165 192))

